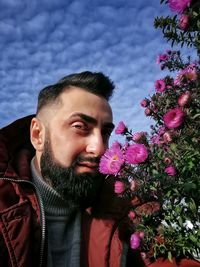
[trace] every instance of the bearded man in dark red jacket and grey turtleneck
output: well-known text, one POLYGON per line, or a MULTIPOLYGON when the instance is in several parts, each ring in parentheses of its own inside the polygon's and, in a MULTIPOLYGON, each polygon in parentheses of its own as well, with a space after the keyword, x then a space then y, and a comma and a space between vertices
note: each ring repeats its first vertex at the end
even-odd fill
POLYGON ((0 267, 145 266, 127 202, 98 172, 113 89, 102 73, 66 76, 40 92, 35 117, 1 129, 0 267))

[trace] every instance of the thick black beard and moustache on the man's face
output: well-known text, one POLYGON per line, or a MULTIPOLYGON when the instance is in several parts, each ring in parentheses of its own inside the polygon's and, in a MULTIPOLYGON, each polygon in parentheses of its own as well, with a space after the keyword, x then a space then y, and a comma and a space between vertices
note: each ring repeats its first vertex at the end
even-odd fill
POLYGON ((63 167, 53 159, 49 138, 46 139, 40 166, 42 177, 60 194, 71 211, 93 206, 99 195, 104 175, 75 172, 78 162, 99 162, 98 158, 77 157, 70 167, 63 167))

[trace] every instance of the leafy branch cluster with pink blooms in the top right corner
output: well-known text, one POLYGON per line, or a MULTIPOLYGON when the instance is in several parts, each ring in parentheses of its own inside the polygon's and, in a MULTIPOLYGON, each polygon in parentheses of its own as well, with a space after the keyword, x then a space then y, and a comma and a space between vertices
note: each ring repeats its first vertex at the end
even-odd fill
POLYGON ((175 13, 173 17, 157 17, 155 28, 161 28, 163 36, 174 43, 186 44, 200 52, 200 1, 161 0, 175 13))

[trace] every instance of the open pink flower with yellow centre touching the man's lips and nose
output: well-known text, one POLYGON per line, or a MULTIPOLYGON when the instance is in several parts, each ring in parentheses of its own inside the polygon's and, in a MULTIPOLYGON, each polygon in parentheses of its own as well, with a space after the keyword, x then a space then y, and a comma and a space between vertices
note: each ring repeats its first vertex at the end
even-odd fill
POLYGON ((107 149, 105 154, 101 157, 99 163, 99 171, 103 174, 116 175, 124 163, 124 156, 120 146, 116 142, 110 149, 107 149))

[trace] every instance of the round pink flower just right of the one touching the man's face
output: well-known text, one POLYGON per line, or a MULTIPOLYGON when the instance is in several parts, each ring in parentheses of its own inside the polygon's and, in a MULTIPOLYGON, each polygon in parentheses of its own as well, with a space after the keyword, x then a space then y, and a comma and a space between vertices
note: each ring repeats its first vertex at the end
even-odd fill
POLYGON ((130 164, 142 163, 148 158, 148 151, 143 144, 133 144, 127 148, 125 157, 130 164))

